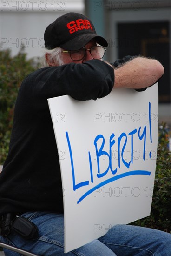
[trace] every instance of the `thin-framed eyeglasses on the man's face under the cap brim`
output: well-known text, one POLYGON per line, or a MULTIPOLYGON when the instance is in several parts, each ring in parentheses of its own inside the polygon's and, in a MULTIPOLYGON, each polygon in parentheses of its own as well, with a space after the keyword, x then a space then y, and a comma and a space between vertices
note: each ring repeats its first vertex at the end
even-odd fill
POLYGON ((92 58, 95 60, 102 59, 105 55, 105 47, 103 46, 92 46, 92 47, 83 47, 77 51, 61 51, 61 53, 70 54, 72 61, 80 61, 84 59, 86 51, 89 51, 92 55, 92 58))

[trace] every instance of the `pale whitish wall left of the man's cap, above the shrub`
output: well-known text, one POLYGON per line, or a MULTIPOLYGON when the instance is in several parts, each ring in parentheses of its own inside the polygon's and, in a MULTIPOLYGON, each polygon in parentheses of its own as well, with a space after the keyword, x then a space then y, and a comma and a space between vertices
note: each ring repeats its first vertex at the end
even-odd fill
POLYGON ((28 58, 41 56, 46 27, 65 13, 84 9, 84 0, 1 0, 1 48, 10 48, 15 55, 24 44, 28 58))

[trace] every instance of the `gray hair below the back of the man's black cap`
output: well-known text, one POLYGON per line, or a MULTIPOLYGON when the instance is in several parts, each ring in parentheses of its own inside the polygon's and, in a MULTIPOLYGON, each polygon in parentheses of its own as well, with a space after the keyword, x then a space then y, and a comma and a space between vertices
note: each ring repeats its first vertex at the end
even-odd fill
POLYGON ((49 54, 49 61, 50 62, 55 62, 56 66, 61 66, 64 65, 64 61, 62 59, 62 54, 61 54, 62 48, 56 47, 52 50, 45 49, 44 56, 42 57, 42 65, 43 67, 48 67, 48 62, 46 61, 45 54, 49 54))

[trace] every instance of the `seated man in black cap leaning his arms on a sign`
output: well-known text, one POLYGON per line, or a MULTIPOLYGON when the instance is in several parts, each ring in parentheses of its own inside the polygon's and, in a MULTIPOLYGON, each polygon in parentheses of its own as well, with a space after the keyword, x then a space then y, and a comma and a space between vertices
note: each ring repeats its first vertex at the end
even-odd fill
MULTIPOLYGON (((59 17, 46 28, 44 39, 48 67, 26 77, 15 105, 9 154, 0 175, 0 240, 37 255, 62 256, 62 184, 47 99, 68 94, 79 101, 96 100, 109 94, 113 86, 143 90, 158 81, 164 68, 143 57, 126 56, 113 64, 102 61, 107 41, 96 34, 91 20, 79 13, 59 17), (138 85, 132 84, 135 75, 138 85), (26 223, 31 230, 27 234, 20 229, 26 223)), ((65 255, 171 255, 170 234, 121 227, 122 231, 112 228, 65 255)), ((4 251, 8 256, 17 255, 4 251)))

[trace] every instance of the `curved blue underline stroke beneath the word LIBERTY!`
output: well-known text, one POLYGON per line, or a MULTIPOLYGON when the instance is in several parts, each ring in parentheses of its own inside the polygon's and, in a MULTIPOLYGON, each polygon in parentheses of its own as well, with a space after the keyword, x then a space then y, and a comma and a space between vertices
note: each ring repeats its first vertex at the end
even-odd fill
POLYGON ((114 176, 110 179, 107 179, 106 181, 104 182, 101 182, 99 183, 98 185, 96 185, 94 188, 88 190, 84 195, 82 195, 79 200, 77 201, 77 204, 79 204, 86 196, 90 195, 93 191, 95 191, 96 189, 99 189, 100 187, 110 183, 110 182, 113 182, 113 181, 116 181, 118 179, 121 179, 121 178, 124 178, 124 177, 127 177, 127 176, 131 176, 131 175, 151 175, 151 172, 149 171, 144 171, 144 170, 135 170, 135 171, 129 171, 129 172, 125 172, 125 173, 122 173, 122 174, 119 174, 117 176, 114 176))

